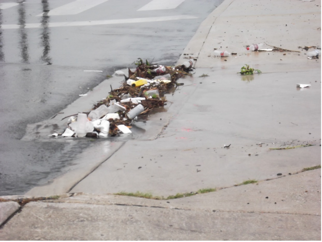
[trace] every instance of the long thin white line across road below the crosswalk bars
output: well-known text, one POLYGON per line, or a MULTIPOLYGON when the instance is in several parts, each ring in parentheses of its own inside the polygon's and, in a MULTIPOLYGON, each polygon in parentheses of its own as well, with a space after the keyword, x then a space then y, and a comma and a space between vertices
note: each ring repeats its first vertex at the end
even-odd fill
MULTIPOLYGON (((91 26, 102 24, 118 24, 118 23, 146 23, 170 20, 195 19, 198 17, 192 15, 174 15, 163 17, 149 17, 149 18, 128 18, 128 19, 111 19, 111 20, 97 20, 97 21, 79 21, 79 22, 59 22, 48 23, 48 27, 69 27, 69 26, 91 26)), ((2 29, 19 29, 19 28, 43 28, 41 23, 26 23, 23 26, 19 24, 3 24, 2 29)))

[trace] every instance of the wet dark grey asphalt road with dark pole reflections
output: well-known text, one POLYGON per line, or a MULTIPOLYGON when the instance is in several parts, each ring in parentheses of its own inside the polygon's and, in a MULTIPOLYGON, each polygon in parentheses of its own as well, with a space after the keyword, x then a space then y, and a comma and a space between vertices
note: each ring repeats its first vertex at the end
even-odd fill
POLYGON ((72 1, 0 2, 0 195, 44 184, 92 145, 22 141, 27 124, 49 119, 115 70, 133 67, 137 58, 175 64, 222 0, 185 0, 174 9, 137 11, 149 2, 102 1, 63 15, 50 13, 72 1))

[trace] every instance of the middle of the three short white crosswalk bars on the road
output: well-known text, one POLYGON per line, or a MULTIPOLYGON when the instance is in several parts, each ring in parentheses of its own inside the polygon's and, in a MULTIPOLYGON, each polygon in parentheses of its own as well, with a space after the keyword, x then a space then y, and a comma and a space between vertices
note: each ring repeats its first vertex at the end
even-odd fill
MULTIPOLYGON (((105 3, 108 0, 76 0, 69 4, 62 5, 58 8, 54 8, 48 12, 48 16, 53 15, 72 15, 84 12, 92 7, 99 4, 105 3)), ((38 14, 37 16, 43 16, 43 14, 38 14)))

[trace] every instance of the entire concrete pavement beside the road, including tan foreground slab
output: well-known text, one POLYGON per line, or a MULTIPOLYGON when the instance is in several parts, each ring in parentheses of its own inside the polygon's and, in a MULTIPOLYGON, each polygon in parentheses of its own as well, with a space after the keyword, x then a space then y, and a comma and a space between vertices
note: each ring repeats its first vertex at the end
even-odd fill
MULTIPOLYGON (((320 44, 320 0, 225 0, 178 60, 196 59, 196 70, 167 96, 166 112, 137 122, 144 135, 109 150, 105 162, 27 192, 64 195, 26 204, 0 238, 320 240, 321 170, 301 171, 321 164, 321 62, 298 48, 320 44), (260 42, 292 51, 245 51, 260 42), (237 55, 214 57, 214 48, 237 55), (237 74, 244 64, 262 73, 237 74), (247 180, 258 182, 234 186, 247 180), (207 188, 217 191, 174 200, 103 195, 207 188)), ((0 205, 1 222, 19 209, 0 205)))

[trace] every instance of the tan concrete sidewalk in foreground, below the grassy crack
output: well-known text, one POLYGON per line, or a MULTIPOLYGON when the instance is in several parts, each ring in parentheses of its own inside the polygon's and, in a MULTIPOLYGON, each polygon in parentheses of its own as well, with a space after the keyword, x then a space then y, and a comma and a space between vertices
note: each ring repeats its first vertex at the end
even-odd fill
POLYGON ((174 200, 74 194, 26 204, 0 238, 320 240, 320 180, 313 170, 174 200))

